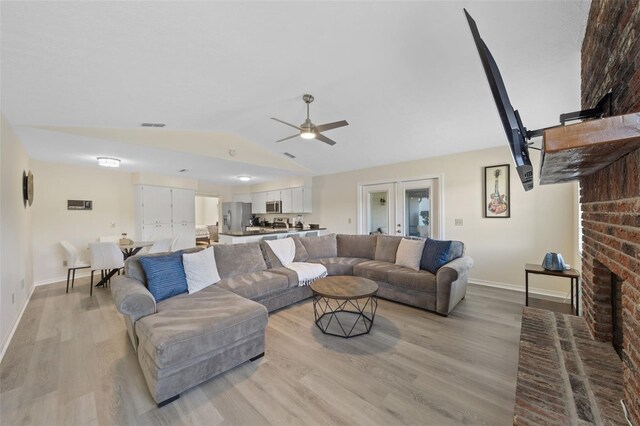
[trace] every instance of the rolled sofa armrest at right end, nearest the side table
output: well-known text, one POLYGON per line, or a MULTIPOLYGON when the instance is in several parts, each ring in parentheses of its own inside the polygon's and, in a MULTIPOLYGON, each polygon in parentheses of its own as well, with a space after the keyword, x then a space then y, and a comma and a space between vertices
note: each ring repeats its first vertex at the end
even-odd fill
POLYGON ((473 268, 473 259, 469 256, 463 256, 438 269, 436 273, 436 312, 448 315, 458 302, 464 299, 471 268, 473 268))

